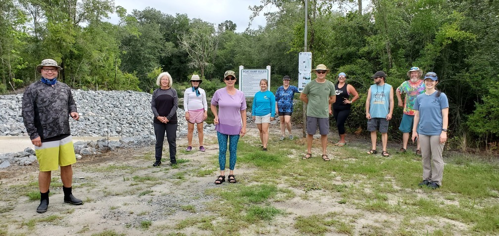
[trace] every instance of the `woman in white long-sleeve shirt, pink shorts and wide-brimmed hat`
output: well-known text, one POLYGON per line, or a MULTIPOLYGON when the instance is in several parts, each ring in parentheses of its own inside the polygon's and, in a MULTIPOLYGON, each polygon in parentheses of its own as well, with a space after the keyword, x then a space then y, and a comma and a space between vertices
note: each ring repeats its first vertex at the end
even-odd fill
POLYGON ((188 146, 186 151, 192 150, 192 136, 194 133, 194 124, 198 129, 199 150, 206 151, 203 147, 203 123, 208 117, 208 103, 206 102, 206 92, 199 85, 203 82, 199 75, 194 74, 189 80, 192 87, 187 88, 184 92, 184 110, 186 111, 187 120, 187 141, 188 146))

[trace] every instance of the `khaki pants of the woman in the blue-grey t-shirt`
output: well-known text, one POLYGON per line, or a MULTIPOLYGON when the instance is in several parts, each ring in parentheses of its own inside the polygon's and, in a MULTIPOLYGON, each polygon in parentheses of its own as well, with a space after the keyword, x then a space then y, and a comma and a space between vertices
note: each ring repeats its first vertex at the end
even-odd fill
POLYGON ((419 135, 419 142, 423 156, 423 180, 435 182, 442 186, 444 176, 442 151, 445 143, 440 143, 440 135, 427 136, 422 134, 419 135))

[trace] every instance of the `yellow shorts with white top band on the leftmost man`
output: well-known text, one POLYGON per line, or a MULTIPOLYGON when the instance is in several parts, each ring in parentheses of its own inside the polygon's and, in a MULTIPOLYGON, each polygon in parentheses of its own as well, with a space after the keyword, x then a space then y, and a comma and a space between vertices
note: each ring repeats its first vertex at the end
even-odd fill
POLYGON ((61 140, 42 142, 41 147, 34 147, 40 171, 55 171, 59 166, 76 163, 72 136, 61 140))

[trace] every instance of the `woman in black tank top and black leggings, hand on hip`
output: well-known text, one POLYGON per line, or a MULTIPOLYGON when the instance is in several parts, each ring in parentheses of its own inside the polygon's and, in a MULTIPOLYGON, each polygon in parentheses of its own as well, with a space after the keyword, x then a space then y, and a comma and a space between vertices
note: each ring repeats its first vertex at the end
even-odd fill
POLYGON ((345 121, 348 115, 350 115, 352 103, 359 99, 359 94, 352 85, 346 83, 346 78, 346 74, 341 72, 338 74, 338 82, 334 84, 334 88, 336 89, 336 102, 333 103, 333 116, 336 121, 336 126, 338 127, 338 134, 340 135, 340 140, 334 145, 339 147, 346 144, 345 121), (350 95, 353 95, 352 100, 349 100, 350 95))

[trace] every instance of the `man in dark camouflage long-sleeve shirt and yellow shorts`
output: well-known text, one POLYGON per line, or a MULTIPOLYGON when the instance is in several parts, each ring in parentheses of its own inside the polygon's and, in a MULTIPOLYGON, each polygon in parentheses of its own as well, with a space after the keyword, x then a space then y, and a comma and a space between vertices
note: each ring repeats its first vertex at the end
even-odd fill
POLYGON ((22 119, 31 143, 35 146, 40 172, 38 187, 40 205, 38 213, 48 208, 48 194, 51 171, 61 168, 64 202, 81 205, 83 201, 71 193, 73 170, 76 163, 73 141, 69 129, 69 116, 78 120, 76 103, 71 89, 65 83, 57 81, 62 68, 52 59, 41 61, 36 66, 41 79, 30 84, 22 96, 22 119))

